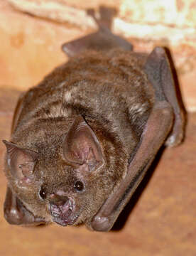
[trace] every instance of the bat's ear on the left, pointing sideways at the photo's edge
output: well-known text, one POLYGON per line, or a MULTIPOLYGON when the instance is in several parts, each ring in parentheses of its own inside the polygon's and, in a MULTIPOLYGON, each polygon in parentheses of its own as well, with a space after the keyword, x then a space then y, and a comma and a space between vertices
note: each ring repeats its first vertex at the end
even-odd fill
POLYGON ((21 146, 6 140, 3 142, 7 149, 6 160, 11 175, 21 182, 31 182, 38 153, 31 149, 23 149, 21 146))

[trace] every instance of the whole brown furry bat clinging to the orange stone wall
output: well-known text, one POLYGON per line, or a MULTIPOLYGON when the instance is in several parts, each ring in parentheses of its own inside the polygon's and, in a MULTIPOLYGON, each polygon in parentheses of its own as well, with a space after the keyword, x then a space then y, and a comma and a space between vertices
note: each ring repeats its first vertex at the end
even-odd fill
POLYGON ((13 225, 108 231, 163 144, 185 126, 165 48, 135 53, 101 20, 65 43, 70 57, 18 99, 4 216, 13 225))

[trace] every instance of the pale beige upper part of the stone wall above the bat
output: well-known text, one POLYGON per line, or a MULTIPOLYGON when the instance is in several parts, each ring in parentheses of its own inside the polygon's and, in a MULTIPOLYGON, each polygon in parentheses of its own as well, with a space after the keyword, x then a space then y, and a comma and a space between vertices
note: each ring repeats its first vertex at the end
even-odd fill
MULTIPOLYGON (((0 86, 26 90, 67 60, 61 44, 96 30, 85 10, 98 11, 105 2, 0 1, 0 86)), ((131 41, 135 50, 149 52, 157 45, 170 48, 185 105, 195 111, 196 1, 110 0, 107 6, 116 9, 114 33, 131 41)))

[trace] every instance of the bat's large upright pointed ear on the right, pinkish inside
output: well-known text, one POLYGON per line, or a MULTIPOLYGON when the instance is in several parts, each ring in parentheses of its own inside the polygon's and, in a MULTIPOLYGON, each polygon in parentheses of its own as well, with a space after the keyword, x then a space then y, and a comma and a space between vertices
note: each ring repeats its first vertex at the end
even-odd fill
POLYGON ((94 171, 104 164, 102 148, 85 119, 80 116, 70 127, 62 146, 65 160, 94 171))

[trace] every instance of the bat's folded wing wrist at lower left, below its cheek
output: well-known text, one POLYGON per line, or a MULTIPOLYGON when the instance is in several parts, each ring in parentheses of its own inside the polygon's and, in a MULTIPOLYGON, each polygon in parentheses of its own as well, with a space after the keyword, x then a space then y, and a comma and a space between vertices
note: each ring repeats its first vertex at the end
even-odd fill
POLYGON ((35 217, 23 206, 21 201, 12 193, 7 186, 6 200, 4 202, 4 216, 8 223, 13 225, 40 225, 45 221, 35 217))

